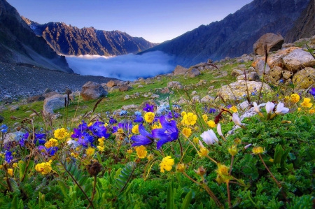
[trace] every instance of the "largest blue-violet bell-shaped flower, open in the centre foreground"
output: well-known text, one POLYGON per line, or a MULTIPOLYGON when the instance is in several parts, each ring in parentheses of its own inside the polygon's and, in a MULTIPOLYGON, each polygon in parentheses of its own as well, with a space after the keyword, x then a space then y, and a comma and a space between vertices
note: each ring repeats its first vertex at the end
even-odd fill
POLYGON ((160 117, 162 129, 153 129, 153 138, 158 138, 156 148, 159 150, 162 145, 179 138, 179 129, 176 127, 175 120, 167 121, 165 116, 160 117))

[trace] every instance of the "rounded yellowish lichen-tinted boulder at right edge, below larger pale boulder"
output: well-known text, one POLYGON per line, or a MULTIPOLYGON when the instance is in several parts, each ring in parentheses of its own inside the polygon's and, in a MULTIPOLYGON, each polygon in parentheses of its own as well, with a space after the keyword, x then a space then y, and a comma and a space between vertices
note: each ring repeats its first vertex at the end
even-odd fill
POLYGON ((315 82, 315 69, 305 68, 293 75, 293 84, 297 89, 307 89, 315 82))

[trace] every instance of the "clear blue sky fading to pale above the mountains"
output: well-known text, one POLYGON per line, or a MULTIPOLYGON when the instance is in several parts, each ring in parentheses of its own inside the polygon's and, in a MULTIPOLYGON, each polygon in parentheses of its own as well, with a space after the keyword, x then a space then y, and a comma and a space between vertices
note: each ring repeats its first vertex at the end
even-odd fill
POLYGON ((124 31, 162 43, 201 24, 222 20, 252 0, 7 0, 38 23, 124 31))

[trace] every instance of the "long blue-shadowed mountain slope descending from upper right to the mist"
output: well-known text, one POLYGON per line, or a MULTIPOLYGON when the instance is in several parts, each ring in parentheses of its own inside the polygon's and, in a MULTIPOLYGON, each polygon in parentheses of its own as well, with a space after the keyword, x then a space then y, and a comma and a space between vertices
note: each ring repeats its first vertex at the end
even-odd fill
POLYGON ((308 3, 309 0, 254 0, 220 22, 201 25, 145 52, 161 50, 175 55, 174 64, 183 66, 207 62, 209 58, 239 57, 253 52, 253 44, 264 34, 284 37, 308 3))

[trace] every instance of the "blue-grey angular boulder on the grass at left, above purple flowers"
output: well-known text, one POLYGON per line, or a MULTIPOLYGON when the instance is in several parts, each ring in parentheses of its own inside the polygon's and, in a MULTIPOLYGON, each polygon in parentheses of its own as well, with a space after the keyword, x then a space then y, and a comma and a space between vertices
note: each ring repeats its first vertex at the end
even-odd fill
POLYGON ((67 99, 66 95, 56 94, 44 100, 43 113, 44 115, 54 114, 54 110, 64 108, 64 103, 67 99))

